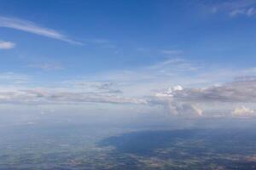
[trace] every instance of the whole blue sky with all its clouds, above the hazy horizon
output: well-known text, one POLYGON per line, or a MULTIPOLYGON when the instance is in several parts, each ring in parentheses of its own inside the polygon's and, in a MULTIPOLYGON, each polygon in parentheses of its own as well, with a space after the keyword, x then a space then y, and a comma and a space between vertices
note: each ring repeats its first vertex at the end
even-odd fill
POLYGON ((0 113, 256 116, 256 1, 0 1, 0 113))

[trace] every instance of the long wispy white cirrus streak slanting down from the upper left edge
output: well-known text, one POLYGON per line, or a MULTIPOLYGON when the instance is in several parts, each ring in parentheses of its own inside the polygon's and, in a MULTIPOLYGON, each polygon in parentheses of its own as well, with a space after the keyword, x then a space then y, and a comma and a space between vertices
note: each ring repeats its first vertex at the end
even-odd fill
POLYGON ((44 37, 50 37, 63 42, 69 42, 77 45, 83 45, 82 42, 75 41, 66 35, 61 34, 58 31, 38 26, 32 21, 21 20, 13 17, 0 16, 0 27, 12 28, 15 30, 26 31, 33 34, 37 34, 44 37))

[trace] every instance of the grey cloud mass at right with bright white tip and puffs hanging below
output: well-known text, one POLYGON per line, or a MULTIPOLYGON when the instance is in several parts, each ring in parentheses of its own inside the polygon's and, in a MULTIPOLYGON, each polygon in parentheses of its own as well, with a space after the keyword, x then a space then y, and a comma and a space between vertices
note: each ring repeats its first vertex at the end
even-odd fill
MULTIPOLYGON (((256 102, 256 80, 254 78, 245 78, 210 88, 176 86, 155 94, 155 99, 150 101, 154 105, 164 105, 173 115, 194 116, 201 116, 203 113, 202 109, 198 107, 199 104, 224 103, 232 105, 253 102, 256 102)), ((253 110, 244 106, 232 111, 232 114, 236 116, 251 116, 253 113, 253 110)))

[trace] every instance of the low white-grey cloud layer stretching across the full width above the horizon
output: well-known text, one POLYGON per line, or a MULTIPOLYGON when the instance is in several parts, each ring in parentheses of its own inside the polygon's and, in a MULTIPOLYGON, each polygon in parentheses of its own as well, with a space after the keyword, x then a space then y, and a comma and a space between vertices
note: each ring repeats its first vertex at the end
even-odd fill
POLYGON ((89 102, 147 105, 160 106, 172 116, 206 116, 207 110, 214 104, 224 105, 229 116, 254 116, 255 108, 248 109, 243 105, 256 102, 255 77, 240 77, 234 82, 208 88, 183 88, 178 85, 166 90, 159 89, 154 95, 132 96, 124 93, 123 87, 118 87, 114 82, 77 81, 68 84, 66 88, 16 89, 0 92, 0 103, 74 105, 89 102))

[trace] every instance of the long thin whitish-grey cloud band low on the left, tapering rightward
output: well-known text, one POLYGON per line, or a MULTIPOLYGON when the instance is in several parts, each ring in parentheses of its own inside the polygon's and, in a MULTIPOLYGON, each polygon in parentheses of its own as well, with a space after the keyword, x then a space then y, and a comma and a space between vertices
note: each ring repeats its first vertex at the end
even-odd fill
POLYGON ((0 103, 44 105, 79 103, 108 103, 108 104, 136 104, 145 105, 145 99, 127 98, 115 94, 73 92, 68 89, 29 88, 26 90, 13 90, 0 92, 0 103))

